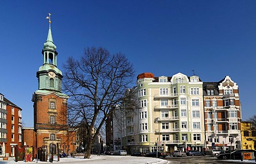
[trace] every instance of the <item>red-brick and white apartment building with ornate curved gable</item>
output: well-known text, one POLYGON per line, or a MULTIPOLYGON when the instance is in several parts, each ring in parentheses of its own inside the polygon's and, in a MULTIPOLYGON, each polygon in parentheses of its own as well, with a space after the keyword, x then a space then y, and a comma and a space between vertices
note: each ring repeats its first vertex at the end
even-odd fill
POLYGON ((229 76, 203 82, 207 149, 241 149, 241 103, 238 85, 229 76))

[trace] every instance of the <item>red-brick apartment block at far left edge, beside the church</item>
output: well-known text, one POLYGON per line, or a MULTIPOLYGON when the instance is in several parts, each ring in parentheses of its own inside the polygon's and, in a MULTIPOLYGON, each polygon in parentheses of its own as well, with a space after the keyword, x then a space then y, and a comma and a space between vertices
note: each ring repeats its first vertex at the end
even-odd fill
POLYGON ((15 146, 22 144, 21 110, 0 93, 0 157, 14 157, 15 146))

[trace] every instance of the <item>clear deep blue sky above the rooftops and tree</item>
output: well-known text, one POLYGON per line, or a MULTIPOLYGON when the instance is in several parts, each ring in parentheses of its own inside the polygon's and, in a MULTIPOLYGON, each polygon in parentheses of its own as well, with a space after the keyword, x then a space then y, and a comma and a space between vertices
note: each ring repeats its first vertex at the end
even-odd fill
MULTIPOLYGON (((88 46, 124 53, 136 76, 176 73, 202 81, 229 75, 239 85, 242 118, 256 109, 256 1, 0 1, 0 92, 33 127, 36 72, 51 28, 58 67, 88 46), (247 87, 246 87, 247 86, 247 87)), ((135 77, 134 77, 135 85, 135 77)))

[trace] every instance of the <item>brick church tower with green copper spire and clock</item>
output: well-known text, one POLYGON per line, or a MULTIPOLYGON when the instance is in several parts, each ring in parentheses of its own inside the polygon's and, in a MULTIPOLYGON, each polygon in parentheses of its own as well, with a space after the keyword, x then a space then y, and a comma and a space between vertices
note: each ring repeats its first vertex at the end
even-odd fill
MULTIPOLYGON (((47 153, 57 154, 57 146, 67 151, 75 136, 70 136, 67 127, 68 96, 61 91, 62 73, 57 67, 57 47, 54 45, 51 31, 51 14, 49 31, 44 43, 43 65, 36 73, 38 90, 33 93, 34 102, 34 156, 37 148, 47 146, 47 153)), ((71 150, 72 151, 72 150, 71 150)))

